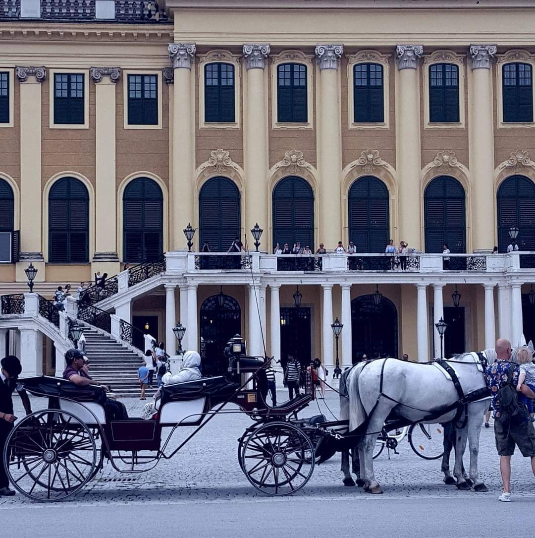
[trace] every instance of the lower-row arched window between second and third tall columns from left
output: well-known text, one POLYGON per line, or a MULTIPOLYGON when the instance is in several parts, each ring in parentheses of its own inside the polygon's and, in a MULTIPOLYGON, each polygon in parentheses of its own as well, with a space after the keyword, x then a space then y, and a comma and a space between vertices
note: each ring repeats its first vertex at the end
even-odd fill
POLYGON ((273 190, 273 245, 300 241, 314 250, 314 195, 310 185, 288 176, 273 190))

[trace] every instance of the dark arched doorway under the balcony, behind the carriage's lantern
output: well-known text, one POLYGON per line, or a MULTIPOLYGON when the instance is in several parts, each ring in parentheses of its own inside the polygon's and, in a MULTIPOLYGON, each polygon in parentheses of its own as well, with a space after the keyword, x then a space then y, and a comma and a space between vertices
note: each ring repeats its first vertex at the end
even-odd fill
POLYGON ((241 310, 236 299, 219 293, 201 305, 201 364, 203 376, 224 375, 228 361, 223 355, 226 343, 241 332, 241 310))

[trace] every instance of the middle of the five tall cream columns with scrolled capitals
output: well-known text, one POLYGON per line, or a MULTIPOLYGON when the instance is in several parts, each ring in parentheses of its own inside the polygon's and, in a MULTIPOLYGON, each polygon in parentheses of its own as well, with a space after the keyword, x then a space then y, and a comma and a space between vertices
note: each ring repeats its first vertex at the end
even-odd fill
MULTIPOLYGON (((320 72, 317 126, 318 183, 319 199, 322 201, 319 237, 316 238, 316 243, 323 242, 326 245, 336 245, 342 233, 340 210, 342 150, 338 68, 343 52, 342 45, 316 46, 316 59, 320 72)), ((329 323, 332 323, 332 320, 329 323)))

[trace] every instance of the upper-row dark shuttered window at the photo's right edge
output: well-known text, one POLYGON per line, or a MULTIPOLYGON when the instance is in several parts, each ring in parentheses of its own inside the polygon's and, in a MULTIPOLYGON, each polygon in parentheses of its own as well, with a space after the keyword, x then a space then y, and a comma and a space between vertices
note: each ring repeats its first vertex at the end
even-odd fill
POLYGON ((533 121, 533 77, 529 63, 502 67, 503 121, 533 121))

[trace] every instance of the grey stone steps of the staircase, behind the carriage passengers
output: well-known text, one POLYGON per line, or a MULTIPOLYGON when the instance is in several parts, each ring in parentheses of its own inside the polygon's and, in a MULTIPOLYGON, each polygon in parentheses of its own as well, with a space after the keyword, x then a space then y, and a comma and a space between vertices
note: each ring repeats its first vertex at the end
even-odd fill
MULTIPOLYGON (((138 368, 143 360, 137 353, 115 341, 110 335, 84 324, 85 354, 89 359, 89 375, 110 385, 113 393, 122 397, 139 398, 138 368)), ((156 387, 156 376, 154 376, 156 387)), ((156 388, 147 389, 152 396, 156 388)))

